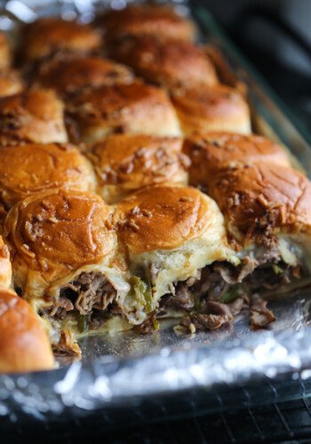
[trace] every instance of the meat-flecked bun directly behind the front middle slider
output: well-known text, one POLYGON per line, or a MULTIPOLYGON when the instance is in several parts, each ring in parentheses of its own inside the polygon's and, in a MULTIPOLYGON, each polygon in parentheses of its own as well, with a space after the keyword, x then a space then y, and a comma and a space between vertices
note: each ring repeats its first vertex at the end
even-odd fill
POLYGON ((168 181, 187 182, 188 159, 182 140, 115 134, 92 147, 88 157, 106 202, 116 202, 138 188, 168 181))

